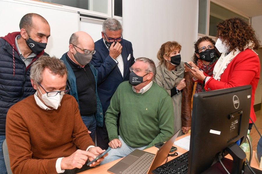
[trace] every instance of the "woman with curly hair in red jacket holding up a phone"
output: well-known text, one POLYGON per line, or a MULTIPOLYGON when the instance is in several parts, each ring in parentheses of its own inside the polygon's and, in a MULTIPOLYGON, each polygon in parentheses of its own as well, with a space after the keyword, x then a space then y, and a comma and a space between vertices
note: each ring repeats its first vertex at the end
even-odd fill
MULTIPOLYGON (((193 62, 189 64, 194 68, 186 70, 190 71, 195 78, 203 81, 206 91, 251 85, 250 117, 256 121, 253 105, 260 78, 260 62, 254 51, 259 48, 255 31, 244 19, 231 18, 218 23, 217 37, 215 46, 222 55, 214 67, 213 77, 201 72, 193 62)), ((249 120, 249 129, 251 128, 252 122, 249 120)))

